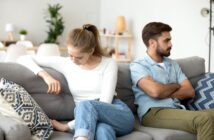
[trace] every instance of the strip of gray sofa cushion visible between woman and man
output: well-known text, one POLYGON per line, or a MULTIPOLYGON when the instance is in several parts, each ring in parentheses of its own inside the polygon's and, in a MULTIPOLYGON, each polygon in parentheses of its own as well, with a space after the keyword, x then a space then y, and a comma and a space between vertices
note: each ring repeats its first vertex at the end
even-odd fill
POLYGON ((118 64, 118 79, 116 87, 117 96, 124 101, 133 113, 137 112, 136 105, 134 104, 134 93, 132 92, 132 81, 129 70, 129 64, 118 64))

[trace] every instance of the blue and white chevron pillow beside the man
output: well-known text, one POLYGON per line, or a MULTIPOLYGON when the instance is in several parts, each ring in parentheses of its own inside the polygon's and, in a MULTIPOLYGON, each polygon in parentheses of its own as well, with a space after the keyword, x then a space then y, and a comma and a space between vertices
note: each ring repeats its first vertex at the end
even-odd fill
POLYGON ((195 97, 188 101, 190 110, 214 108, 214 73, 205 74, 197 83, 195 97))

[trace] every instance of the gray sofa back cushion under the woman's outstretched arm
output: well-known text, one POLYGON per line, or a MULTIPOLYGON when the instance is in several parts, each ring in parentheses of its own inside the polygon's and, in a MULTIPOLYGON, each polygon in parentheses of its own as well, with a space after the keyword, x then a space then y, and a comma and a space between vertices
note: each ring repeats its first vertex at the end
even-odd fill
POLYGON ((73 97, 68 89, 67 81, 61 73, 45 68, 62 84, 61 93, 53 95, 47 94, 46 83, 26 67, 17 63, 0 63, 0 65, 0 78, 4 77, 24 87, 49 118, 57 120, 71 120, 74 118, 75 104, 73 97))

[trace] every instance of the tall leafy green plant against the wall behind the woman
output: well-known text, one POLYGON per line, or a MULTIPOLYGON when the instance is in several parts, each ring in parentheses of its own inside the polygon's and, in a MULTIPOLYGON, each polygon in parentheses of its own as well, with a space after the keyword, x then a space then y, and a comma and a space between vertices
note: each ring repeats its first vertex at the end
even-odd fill
POLYGON ((64 21, 62 15, 59 13, 62 6, 60 4, 48 5, 48 23, 49 31, 45 43, 57 43, 58 36, 62 35, 64 31, 64 21))

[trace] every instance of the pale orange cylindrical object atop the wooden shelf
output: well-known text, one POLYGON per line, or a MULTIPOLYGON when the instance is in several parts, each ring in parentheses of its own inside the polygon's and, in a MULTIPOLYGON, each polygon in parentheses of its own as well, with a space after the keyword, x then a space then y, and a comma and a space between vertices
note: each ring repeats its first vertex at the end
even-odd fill
POLYGON ((118 16, 116 20, 116 34, 122 35, 126 30, 126 20, 124 16, 118 16))

